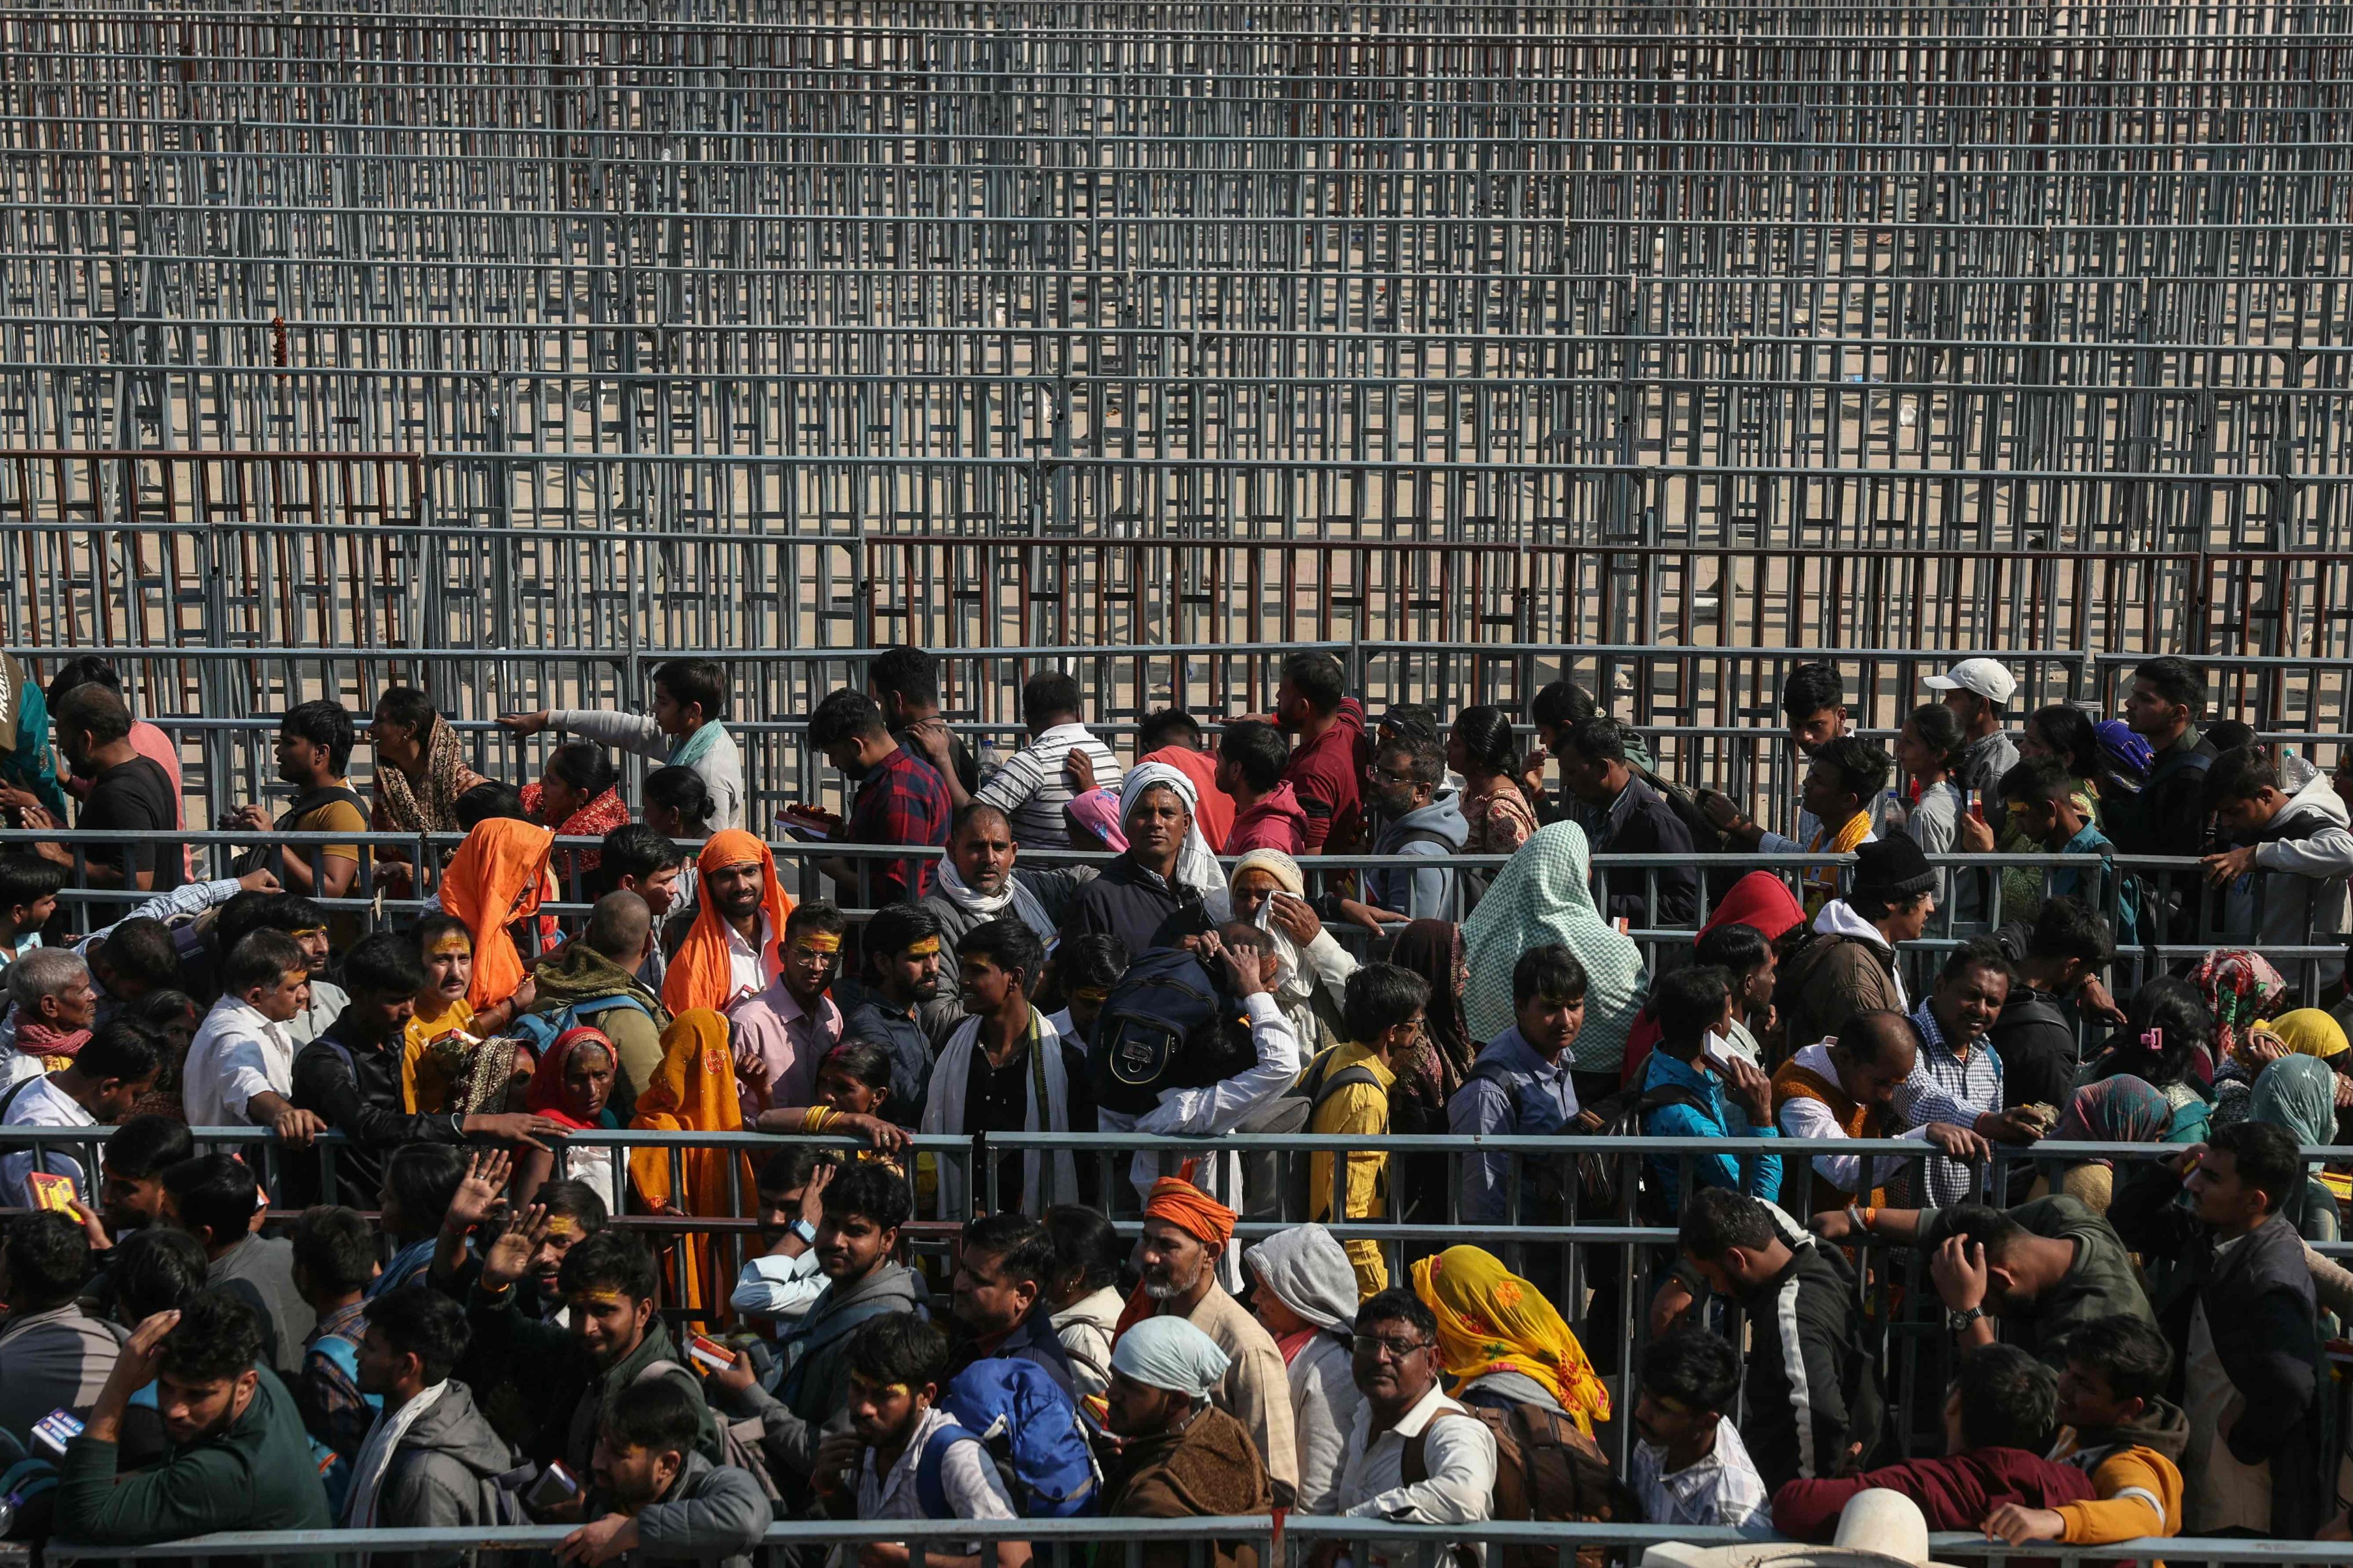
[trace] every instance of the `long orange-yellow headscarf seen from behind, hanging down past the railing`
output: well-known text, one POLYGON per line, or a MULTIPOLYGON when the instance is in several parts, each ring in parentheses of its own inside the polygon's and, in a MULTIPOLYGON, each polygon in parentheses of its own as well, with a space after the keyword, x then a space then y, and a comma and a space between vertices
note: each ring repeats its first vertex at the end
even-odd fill
MULTIPOLYGON (((694 1009, 661 1032, 661 1067, 638 1095, 638 1114, 628 1126, 647 1133, 744 1131, 744 1100, 736 1093, 725 1018, 711 1009, 694 1009)), ((631 1150, 628 1180, 647 1208, 701 1218, 734 1218, 753 1192, 751 1159, 729 1150, 631 1150), (727 1185, 729 1161, 736 1171, 734 1192, 727 1185)), ((725 1314, 725 1288, 711 1288, 732 1276, 725 1237, 680 1237, 673 1269, 678 1291, 671 1300, 725 1314)))

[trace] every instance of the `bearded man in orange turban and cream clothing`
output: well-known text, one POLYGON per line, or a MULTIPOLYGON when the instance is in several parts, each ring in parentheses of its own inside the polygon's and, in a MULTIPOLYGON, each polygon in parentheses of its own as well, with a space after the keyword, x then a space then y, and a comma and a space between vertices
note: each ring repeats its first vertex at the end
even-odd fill
POLYGON ((1217 1284, 1217 1260, 1233 1241, 1233 1211, 1188 1180, 1162 1175, 1144 1204, 1144 1284, 1127 1298, 1120 1333, 1148 1316, 1181 1316, 1226 1352, 1226 1375, 1209 1401, 1242 1422, 1266 1474, 1275 1507, 1299 1493, 1299 1436, 1292 1425, 1292 1373, 1275 1340, 1217 1284))

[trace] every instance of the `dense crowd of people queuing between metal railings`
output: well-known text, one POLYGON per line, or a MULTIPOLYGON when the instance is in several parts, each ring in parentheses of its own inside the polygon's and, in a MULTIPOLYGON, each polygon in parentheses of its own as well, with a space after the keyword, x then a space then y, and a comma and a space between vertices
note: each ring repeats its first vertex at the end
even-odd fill
MULTIPOLYGON (((292 708, 289 799, 233 816, 221 879, 104 661, 7 677, 0 809, 127 835, 0 858, 19 1535, 560 1521, 607 1563, 779 1519, 1285 1507, 1365 1521, 1372 1568, 1412 1556, 1386 1523, 1831 1540, 1878 1490, 2009 1542, 2344 1528, 2318 1368, 2353 1274, 2313 1244, 2348 1190, 2299 1150, 2353 1143, 2353 778, 2202 724, 2179 658, 2113 722, 2017 715, 1962 661, 1894 757, 1800 665, 1802 792, 1765 825, 1567 682, 1522 755, 1518 715, 1369 722, 1299 654, 1271 715, 1153 715, 1122 764, 1047 672, 984 766, 936 661, 889 649, 807 717, 847 811, 774 827, 944 853, 821 853, 840 900, 744 827, 708 661, 661 665, 652 717, 501 719, 562 736, 522 788, 391 689, 362 795, 355 717, 292 708), (635 802, 614 750, 659 762, 635 802), (419 865, 367 832, 464 839, 419 865), (362 856, 416 917, 362 919, 362 856), (146 900, 82 933, 106 905, 68 884, 146 900), (2217 919, 2111 994, 2120 943, 2217 919), (1026 1138, 1073 1131, 1132 1147, 1026 1138), (1581 1133, 1657 1143, 1541 1152, 1581 1133), (1511 1241, 1595 1208, 1673 1244, 1511 1241), (1635 1291, 1617 1366, 1579 1328, 1635 1291), (1932 1380, 1889 1385, 1894 1328, 1932 1380)), ((1019 1568, 1016 1537, 944 1554, 1019 1568)))

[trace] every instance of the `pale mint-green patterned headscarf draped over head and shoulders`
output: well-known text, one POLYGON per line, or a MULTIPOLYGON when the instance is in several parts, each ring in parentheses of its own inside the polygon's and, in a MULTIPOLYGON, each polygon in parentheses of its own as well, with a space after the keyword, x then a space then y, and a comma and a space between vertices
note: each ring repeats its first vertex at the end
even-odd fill
POLYGON ((1464 922, 1464 1027, 1489 1041, 1513 1023, 1511 969, 1529 947, 1562 943, 1586 966, 1586 1027, 1569 1046, 1577 1072, 1617 1072, 1626 1034, 1642 1011, 1649 976, 1633 938, 1593 907, 1593 856, 1586 830, 1551 823, 1513 851, 1494 886, 1464 922))

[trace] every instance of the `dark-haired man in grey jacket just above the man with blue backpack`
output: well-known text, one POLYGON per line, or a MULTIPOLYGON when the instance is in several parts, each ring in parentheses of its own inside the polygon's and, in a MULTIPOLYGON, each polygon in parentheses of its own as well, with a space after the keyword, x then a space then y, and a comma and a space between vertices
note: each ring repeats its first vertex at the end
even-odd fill
POLYGON ((849 1340, 859 1324, 889 1312, 929 1312, 922 1281, 892 1260, 913 1206, 906 1178, 882 1164, 854 1164, 826 1182, 816 1225, 826 1291, 776 1342, 784 1375, 774 1392, 760 1387, 751 1354, 711 1373, 713 1396, 729 1415, 760 1418, 760 1446, 793 1507, 812 1497, 819 1441, 847 1427, 849 1340))

